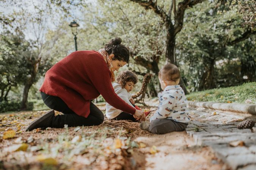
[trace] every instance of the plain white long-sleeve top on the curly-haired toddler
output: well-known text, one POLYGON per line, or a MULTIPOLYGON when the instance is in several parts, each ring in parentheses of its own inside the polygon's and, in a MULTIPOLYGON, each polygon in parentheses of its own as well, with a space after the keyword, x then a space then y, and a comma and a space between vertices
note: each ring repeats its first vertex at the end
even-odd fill
MULTIPOLYGON (((132 94, 128 93, 128 91, 125 88, 122 88, 121 85, 119 85, 118 83, 112 83, 113 88, 115 90, 115 93, 121 98, 123 99, 127 104, 131 105, 133 107, 133 105, 130 102, 130 99, 132 98, 132 94)), ((115 107, 113 107, 112 105, 106 103, 106 116, 108 119, 113 119, 116 116, 118 116, 122 111, 116 109, 115 107)))

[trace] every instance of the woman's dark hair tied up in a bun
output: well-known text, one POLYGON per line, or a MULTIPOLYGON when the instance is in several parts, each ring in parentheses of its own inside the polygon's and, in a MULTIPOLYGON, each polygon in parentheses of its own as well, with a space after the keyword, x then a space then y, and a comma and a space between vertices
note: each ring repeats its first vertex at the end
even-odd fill
POLYGON ((105 44, 105 50, 108 55, 114 54, 113 60, 124 61, 126 63, 129 62, 130 53, 129 50, 121 44, 122 39, 119 37, 115 37, 115 39, 110 40, 107 44, 105 44))

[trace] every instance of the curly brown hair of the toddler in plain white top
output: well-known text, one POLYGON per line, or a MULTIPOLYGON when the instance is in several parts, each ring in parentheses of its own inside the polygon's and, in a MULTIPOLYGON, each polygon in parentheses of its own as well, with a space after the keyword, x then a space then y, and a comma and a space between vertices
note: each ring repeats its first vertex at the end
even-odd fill
POLYGON ((138 82, 138 78, 137 75, 132 71, 125 70, 118 75, 116 82, 120 84, 122 88, 124 88, 126 82, 133 82, 136 84, 138 82))

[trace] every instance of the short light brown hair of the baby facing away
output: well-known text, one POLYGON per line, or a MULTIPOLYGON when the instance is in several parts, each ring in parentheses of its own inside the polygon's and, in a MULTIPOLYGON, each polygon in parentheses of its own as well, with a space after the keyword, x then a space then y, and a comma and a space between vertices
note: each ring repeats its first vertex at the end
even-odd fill
POLYGON ((162 80, 176 82, 180 78, 179 68, 174 64, 166 64, 159 71, 159 77, 162 80))

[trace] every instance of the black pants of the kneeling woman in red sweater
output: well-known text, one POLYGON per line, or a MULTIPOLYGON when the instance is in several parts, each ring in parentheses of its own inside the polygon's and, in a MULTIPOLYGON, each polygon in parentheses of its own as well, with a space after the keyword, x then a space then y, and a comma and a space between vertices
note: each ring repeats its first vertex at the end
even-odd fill
POLYGON ((49 108, 63 113, 53 117, 50 125, 52 128, 63 128, 65 124, 68 127, 100 125, 104 121, 102 111, 92 102, 90 104, 90 114, 85 118, 72 111, 60 97, 50 96, 43 92, 41 92, 41 96, 44 104, 49 108))

